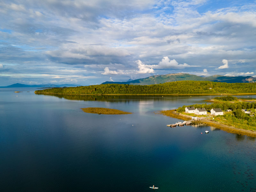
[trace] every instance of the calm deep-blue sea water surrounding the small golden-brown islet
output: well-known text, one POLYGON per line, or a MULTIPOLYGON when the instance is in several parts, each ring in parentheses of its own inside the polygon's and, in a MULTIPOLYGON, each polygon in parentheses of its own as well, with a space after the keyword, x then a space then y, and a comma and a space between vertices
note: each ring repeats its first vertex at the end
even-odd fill
POLYGON ((0 89, 0 191, 256 191, 254 137, 170 128, 179 120, 154 114, 214 95, 62 97, 35 90, 0 89), (85 107, 133 114, 87 114, 85 107))

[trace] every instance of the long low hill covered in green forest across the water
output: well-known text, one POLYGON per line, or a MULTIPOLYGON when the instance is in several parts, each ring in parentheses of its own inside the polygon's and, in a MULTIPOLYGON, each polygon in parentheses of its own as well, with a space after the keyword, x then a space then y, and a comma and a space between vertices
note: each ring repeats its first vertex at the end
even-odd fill
POLYGON ((236 94, 256 93, 256 83, 177 81, 155 85, 100 84, 37 90, 58 94, 236 94))

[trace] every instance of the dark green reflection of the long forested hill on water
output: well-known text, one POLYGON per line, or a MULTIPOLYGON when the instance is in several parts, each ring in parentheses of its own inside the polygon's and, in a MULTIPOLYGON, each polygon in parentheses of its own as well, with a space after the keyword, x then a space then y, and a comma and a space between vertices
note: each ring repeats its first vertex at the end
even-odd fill
MULTIPOLYGON (((38 94, 38 93, 36 93, 38 94)), ((133 100, 163 100, 162 96, 156 95, 61 95, 61 94, 38 94, 64 98, 68 100, 84 100, 84 101, 108 101, 108 102, 124 102, 129 103, 133 100)), ((170 98, 170 97, 169 97, 170 98)))

